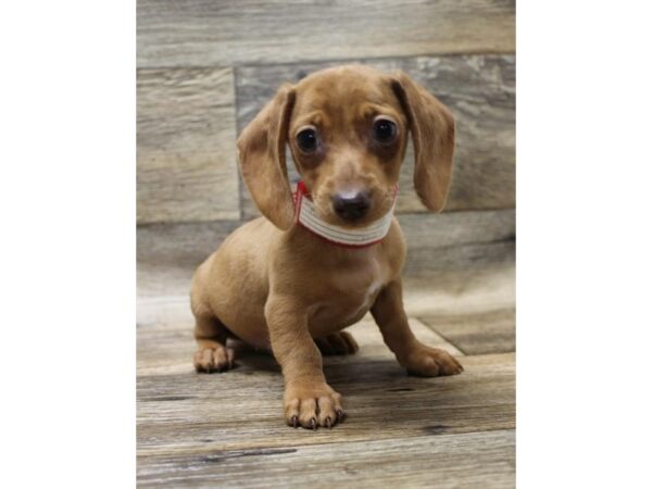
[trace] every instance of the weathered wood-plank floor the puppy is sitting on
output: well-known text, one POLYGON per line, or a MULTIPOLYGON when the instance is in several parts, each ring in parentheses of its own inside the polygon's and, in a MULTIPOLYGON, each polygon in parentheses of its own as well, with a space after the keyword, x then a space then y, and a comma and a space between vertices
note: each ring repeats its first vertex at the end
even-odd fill
POLYGON ((231 372, 193 372, 193 260, 181 256, 186 244, 175 251, 176 236, 165 227, 139 230, 140 486, 514 486, 513 248, 501 260, 406 277, 415 334, 460 356, 462 375, 406 376, 367 316, 350 328, 360 352, 325 359, 348 418, 309 431, 284 424, 273 358, 240 350, 231 372))

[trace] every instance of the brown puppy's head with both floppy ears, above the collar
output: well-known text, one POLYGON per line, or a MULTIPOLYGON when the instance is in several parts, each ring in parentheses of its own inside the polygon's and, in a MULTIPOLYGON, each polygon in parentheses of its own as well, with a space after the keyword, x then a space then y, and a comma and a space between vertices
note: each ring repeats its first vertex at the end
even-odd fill
POLYGON ((416 192, 439 212, 452 174, 454 120, 404 73, 349 65, 281 86, 238 139, 242 175, 261 212, 290 228, 289 143, 319 216, 346 227, 366 225, 391 209, 409 131, 416 192))

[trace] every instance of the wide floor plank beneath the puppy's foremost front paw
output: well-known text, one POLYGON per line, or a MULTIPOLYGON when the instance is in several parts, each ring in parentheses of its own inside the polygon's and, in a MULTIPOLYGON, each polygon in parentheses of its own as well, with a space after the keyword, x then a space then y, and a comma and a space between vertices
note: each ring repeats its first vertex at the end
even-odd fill
MULTIPOLYGON (((155 344, 152 348, 156 348, 155 344)), ((224 374, 138 377, 138 453, 202 453, 255 447, 371 441, 515 426, 514 354, 465 356, 453 377, 406 376, 393 359, 326 358, 348 418, 305 435, 283 419, 283 378, 268 355, 248 353, 224 374)))

